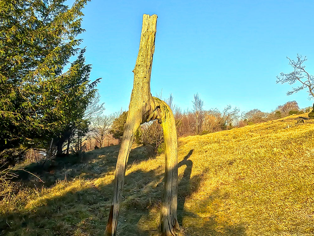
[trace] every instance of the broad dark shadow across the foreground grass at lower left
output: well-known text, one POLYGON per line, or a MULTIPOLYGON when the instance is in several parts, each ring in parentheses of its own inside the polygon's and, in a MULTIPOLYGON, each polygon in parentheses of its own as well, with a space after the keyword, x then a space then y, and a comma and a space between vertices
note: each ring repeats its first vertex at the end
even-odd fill
MULTIPOLYGON (((137 224, 158 205, 162 189, 155 171, 134 171, 126 176, 117 235, 147 235, 137 224), (130 184, 132 182, 132 184, 130 184), (131 185, 131 186, 130 186, 131 185), (140 188, 141 187, 141 188, 140 188), (154 190, 153 190, 154 189, 154 190)), ((83 182, 84 184, 84 182, 83 182)), ((1 216, 1 235, 104 235, 111 206, 112 183, 42 198, 39 206, 1 216)))

